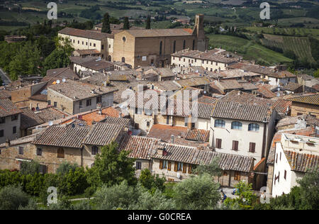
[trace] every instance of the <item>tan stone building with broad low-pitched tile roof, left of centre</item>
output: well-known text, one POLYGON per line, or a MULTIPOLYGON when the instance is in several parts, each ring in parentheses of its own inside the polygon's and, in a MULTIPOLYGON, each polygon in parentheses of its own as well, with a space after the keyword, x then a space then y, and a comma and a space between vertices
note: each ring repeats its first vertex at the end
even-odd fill
POLYGON ((47 104, 69 114, 81 113, 101 107, 113 106, 111 87, 94 86, 65 79, 65 82, 47 87, 47 104))

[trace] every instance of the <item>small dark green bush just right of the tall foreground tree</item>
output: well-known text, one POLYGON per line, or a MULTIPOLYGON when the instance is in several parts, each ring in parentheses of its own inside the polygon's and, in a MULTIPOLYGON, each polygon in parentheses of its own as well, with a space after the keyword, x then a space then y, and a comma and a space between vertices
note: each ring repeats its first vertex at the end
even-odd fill
POLYGON ((146 189, 151 191, 156 191, 159 189, 160 191, 164 191, 165 186, 164 183, 166 181, 165 177, 159 177, 159 174, 152 175, 150 169, 143 169, 140 174, 140 184, 144 186, 146 189))

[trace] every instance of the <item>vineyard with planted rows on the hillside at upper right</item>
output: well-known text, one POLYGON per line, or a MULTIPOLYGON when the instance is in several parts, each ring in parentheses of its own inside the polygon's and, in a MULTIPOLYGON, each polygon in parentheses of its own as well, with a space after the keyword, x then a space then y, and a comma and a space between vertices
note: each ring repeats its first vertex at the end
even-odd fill
POLYGON ((292 50, 299 59, 306 57, 310 62, 315 62, 311 55, 308 38, 265 34, 262 44, 268 47, 277 47, 283 51, 292 50))

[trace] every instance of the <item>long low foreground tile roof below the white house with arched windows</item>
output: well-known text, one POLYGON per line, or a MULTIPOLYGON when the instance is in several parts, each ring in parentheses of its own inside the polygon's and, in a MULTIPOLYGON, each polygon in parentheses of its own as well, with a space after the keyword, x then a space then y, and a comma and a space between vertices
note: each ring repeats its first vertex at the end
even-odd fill
POLYGON ((254 164, 253 157, 198 150, 196 147, 167 143, 162 143, 162 147, 168 152, 167 155, 163 156, 156 151, 151 157, 189 164, 210 164, 214 157, 220 157, 221 169, 240 172, 250 172, 254 164))

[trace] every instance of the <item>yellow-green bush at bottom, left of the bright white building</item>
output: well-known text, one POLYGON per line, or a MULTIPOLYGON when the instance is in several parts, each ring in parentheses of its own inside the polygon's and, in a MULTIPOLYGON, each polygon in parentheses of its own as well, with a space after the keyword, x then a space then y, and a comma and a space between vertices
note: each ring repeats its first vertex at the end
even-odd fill
POLYGON ((240 208, 251 209, 257 200, 257 196, 252 191, 252 184, 246 181, 240 181, 235 185, 237 189, 236 198, 226 198, 224 203, 226 206, 240 206, 240 208))

